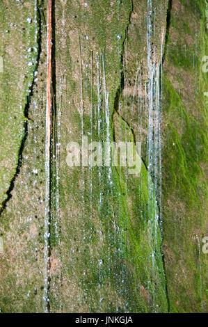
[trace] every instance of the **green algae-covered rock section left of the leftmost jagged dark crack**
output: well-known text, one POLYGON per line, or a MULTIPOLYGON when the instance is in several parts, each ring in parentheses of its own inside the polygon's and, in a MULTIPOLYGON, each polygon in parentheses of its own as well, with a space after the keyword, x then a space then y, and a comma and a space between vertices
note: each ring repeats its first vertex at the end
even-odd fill
POLYGON ((37 1, 1 1, 1 170, 0 210, 19 165, 24 120, 38 58, 37 1))

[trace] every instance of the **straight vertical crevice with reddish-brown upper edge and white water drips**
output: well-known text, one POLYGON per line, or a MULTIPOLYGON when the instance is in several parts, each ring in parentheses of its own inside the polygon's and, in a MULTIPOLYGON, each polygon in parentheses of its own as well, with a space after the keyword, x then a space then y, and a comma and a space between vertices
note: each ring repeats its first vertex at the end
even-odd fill
POLYGON ((46 113, 46 207, 45 207, 45 312, 50 312, 51 248, 56 246, 56 10, 55 0, 47 0, 47 113, 46 113))

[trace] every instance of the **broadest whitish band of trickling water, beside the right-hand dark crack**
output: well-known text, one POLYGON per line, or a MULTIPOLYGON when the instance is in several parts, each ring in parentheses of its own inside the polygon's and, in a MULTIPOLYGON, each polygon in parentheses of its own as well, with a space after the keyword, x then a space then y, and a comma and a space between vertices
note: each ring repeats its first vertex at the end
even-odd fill
MULTIPOLYGON (((147 134, 147 170, 148 170, 148 214, 150 248, 152 248, 152 273, 157 269, 155 251, 157 249, 157 233, 159 228, 158 206, 161 209, 161 64, 156 63, 152 56, 152 0, 147 0, 147 107, 148 107, 148 134, 147 134), (154 184, 152 182, 154 180, 154 184), (158 198, 158 203, 155 200, 158 198), (153 207, 153 209, 152 209, 153 207)), ((154 27, 154 26, 153 26, 154 27)), ((162 44, 161 44, 162 59, 162 44)), ((161 61, 160 59, 160 61, 161 61)), ((155 287, 153 283, 152 301, 156 310, 155 287)))

